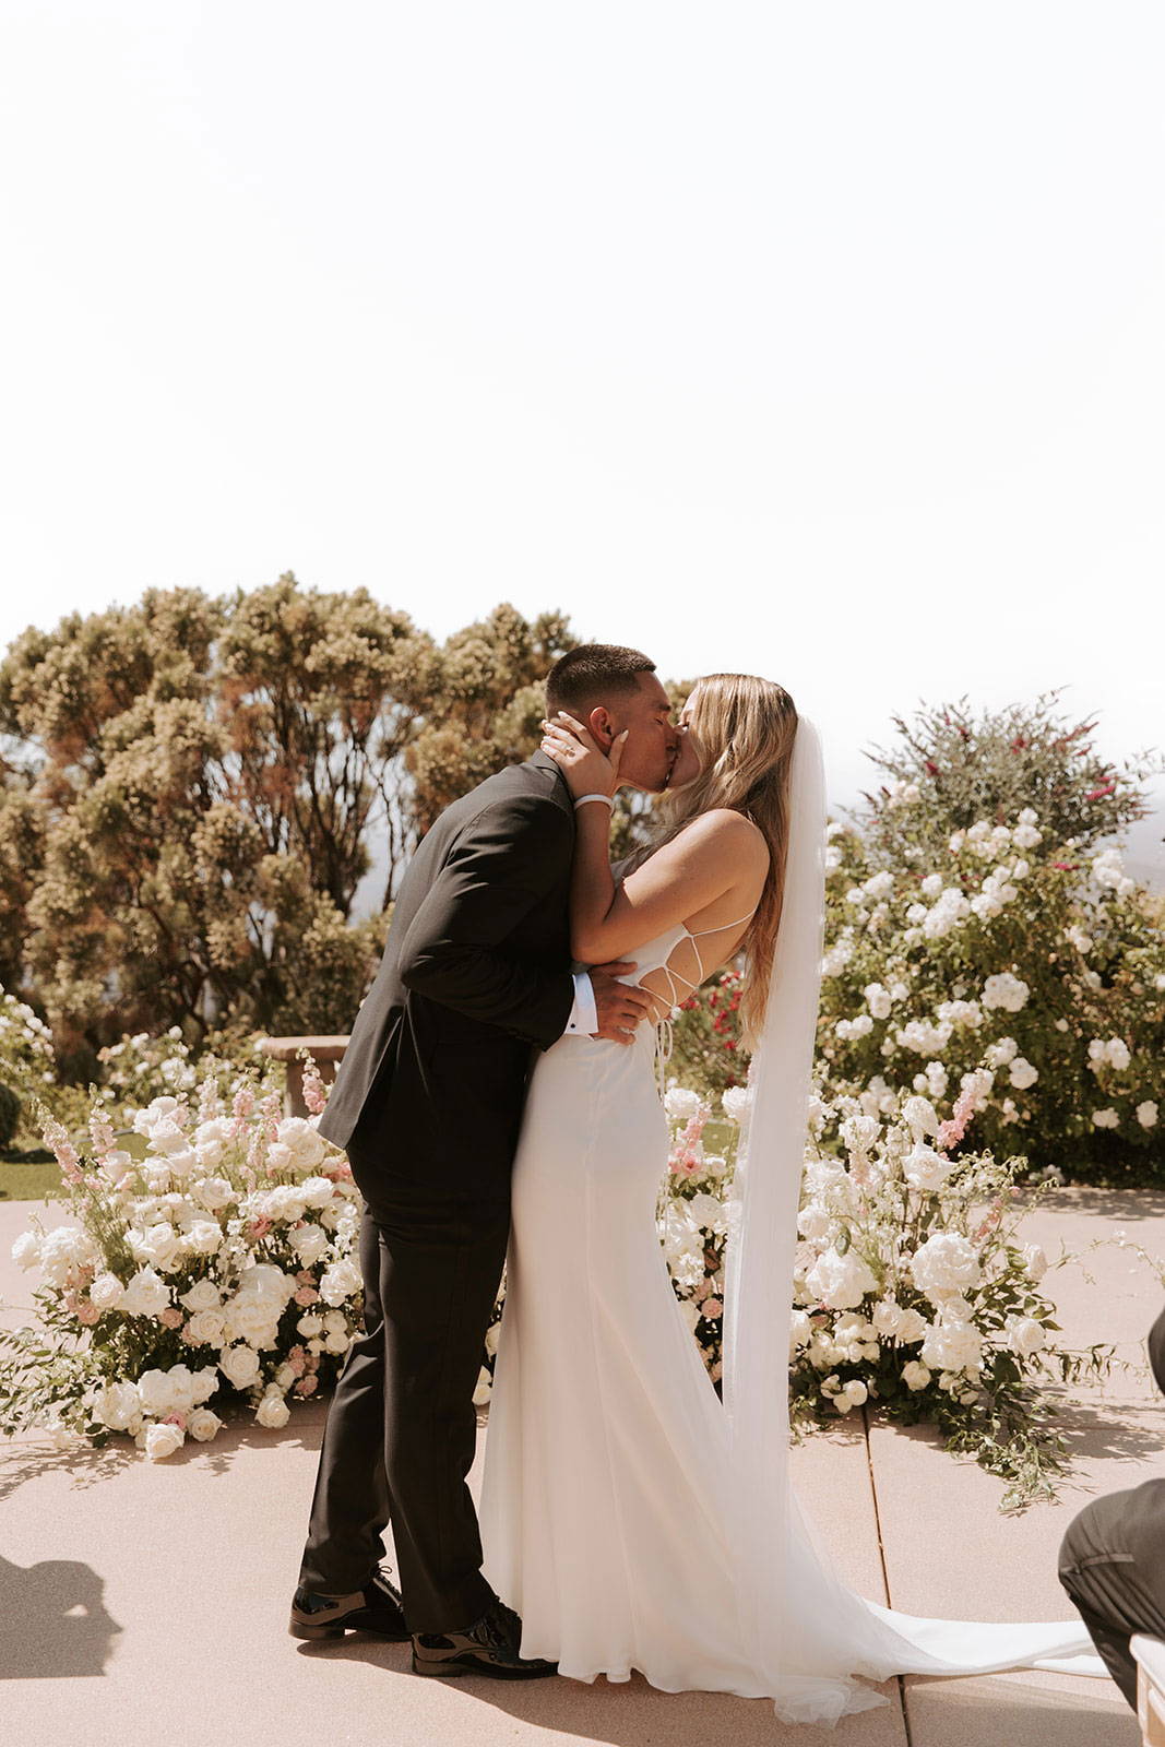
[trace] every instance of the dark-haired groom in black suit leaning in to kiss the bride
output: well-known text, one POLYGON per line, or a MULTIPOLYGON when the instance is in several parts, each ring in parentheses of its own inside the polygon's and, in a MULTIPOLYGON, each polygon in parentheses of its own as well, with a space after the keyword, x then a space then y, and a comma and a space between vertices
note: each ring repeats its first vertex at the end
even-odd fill
MULTIPOLYGON (((550 669, 547 713, 627 730, 620 779, 667 786, 679 748, 638 650, 590 643, 550 669)), ((417 1674, 524 1679, 522 1625, 482 1576, 466 1474, 510 1230, 510 1167, 533 1050, 566 1032, 631 1043, 648 996, 629 964, 571 973, 575 811, 545 753, 442 812, 414 854, 320 1134, 363 1197, 363 1331, 328 1412, 295 1637, 412 1639, 417 1674), (400 1593, 379 1572, 391 1523, 400 1593)))

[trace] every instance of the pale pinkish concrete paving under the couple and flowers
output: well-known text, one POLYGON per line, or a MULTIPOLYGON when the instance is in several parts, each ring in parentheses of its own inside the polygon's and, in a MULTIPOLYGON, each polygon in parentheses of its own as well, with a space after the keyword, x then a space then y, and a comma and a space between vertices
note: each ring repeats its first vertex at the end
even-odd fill
MULTIPOLYGON (((0 1205, 0 1298, 26 1279, 9 1261, 30 1204, 0 1205)), ((51 1223, 59 1212, 51 1211, 51 1223)), ((1058 1190, 1024 1237, 1055 1260, 1123 1230, 1165 1261, 1165 1195, 1058 1190)), ((798 1495, 847 1583, 910 1614, 1062 1619, 1060 1536, 1097 1494, 1165 1474, 1163 1405, 1144 1364, 1158 1274, 1132 1249, 1053 1270, 1065 1340, 1118 1343, 1142 1366, 1064 1396, 1074 1474, 1055 1504, 1001 1516, 1003 1481, 947 1455, 926 1427, 854 1415, 793 1450, 798 1495)), ((5 1321, 12 1321, 9 1314, 5 1321)), ((0 1716, 9 1740, 65 1747, 465 1747, 571 1742, 611 1747, 1135 1747, 1132 1710, 1107 1679, 1013 1672, 908 1675, 889 1703, 837 1730, 789 1728, 762 1700, 657 1693, 557 1679, 452 1686, 407 1672, 407 1646, 286 1635, 323 1408, 283 1433, 236 1424, 152 1466, 129 1447, 59 1455, 35 1438, 0 1443, 0 1716)), ((479 1466, 484 1447, 479 1443, 479 1466)))

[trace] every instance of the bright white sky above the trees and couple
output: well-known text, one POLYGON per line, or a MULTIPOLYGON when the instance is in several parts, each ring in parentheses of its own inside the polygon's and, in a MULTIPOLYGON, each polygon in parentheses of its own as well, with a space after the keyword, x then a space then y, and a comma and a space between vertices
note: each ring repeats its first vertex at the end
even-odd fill
POLYGON ((838 802, 920 699, 1160 746, 1163 84, 1158 0, 0 0, 0 641, 293 570, 765 673, 838 802))

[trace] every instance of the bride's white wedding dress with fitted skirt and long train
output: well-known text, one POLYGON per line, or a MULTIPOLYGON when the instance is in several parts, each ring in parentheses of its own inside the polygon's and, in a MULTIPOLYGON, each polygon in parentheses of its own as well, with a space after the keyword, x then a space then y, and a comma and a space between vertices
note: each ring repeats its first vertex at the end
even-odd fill
MULTIPOLYGON (((676 928, 624 956, 638 978, 671 964, 686 985, 697 952, 676 928)), ((631 1046, 566 1036, 529 1087, 480 1506, 484 1572, 522 1616, 522 1654, 578 1681, 638 1668, 669 1693, 769 1696, 784 1721, 826 1724, 887 1703, 859 1677, 1106 1677, 1079 1618, 920 1619, 842 1583, 788 1476, 791 1275, 776 1293, 774 1387, 744 1399, 737 1377, 735 1420, 672 1291, 655 1225, 669 1153, 655 1041, 646 1024, 631 1046)))

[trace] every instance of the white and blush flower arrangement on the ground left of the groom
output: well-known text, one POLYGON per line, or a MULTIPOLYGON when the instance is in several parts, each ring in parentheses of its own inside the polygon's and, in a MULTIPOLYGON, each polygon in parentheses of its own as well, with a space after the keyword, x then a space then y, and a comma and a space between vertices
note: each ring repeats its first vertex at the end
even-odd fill
POLYGON ((128 1433, 152 1459, 210 1441, 215 1405, 279 1427, 332 1384, 360 1315, 360 1193, 278 1092, 218 1073, 152 1099, 115 1132, 100 1106, 87 1144, 49 1118, 70 1223, 14 1244, 38 1275, 37 1321, 0 1333, 0 1431, 58 1443, 128 1433), (194 1101, 192 1094, 197 1092, 194 1101))

